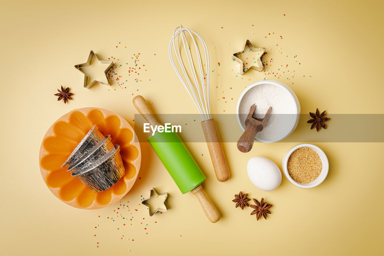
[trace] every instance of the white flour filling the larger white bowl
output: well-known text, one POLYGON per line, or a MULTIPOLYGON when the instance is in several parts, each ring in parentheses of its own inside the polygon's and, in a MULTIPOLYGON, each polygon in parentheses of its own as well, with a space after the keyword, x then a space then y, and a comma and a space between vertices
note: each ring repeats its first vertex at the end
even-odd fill
POLYGON ((239 106, 239 117, 244 128, 252 104, 256 104, 255 118, 263 118, 268 108, 272 107, 271 115, 256 139, 275 140, 289 132, 297 113, 295 100, 285 89, 274 84, 259 84, 249 89, 239 106))

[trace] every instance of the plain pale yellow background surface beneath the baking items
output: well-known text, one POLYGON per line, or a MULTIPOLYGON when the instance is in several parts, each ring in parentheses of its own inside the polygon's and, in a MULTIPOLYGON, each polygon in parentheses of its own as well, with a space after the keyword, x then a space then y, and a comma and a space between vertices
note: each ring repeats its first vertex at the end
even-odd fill
MULTIPOLYGON (((235 76, 238 64, 230 58, 242 50, 247 39, 256 47, 266 47, 267 52, 273 48, 266 55, 275 59, 273 69, 280 64, 295 69, 295 78, 288 83, 282 80, 286 76, 280 80, 296 92, 302 113, 313 112, 316 107, 330 114, 383 113, 382 10, 381 1, 3 1, 0 253, 383 253, 379 246, 384 192, 381 143, 315 143, 329 159, 326 180, 306 190, 283 176, 280 187, 272 192, 252 185, 246 172, 248 159, 261 155, 281 167, 283 153, 298 143, 258 143, 248 154, 240 153, 235 143, 224 144, 231 172, 225 183, 215 179, 206 145, 189 143, 187 147, 207 176, 205 192, 221 213, 215 224, 207 220, 194 195, 180 193, 147 143, 141 144, 141 179, 122 199, 122 203, 129 201, 130 211, 120 210, 127 218, 134 216, 133 221, 107 219, 115 218, 113 210, 118 204, 79 210, 61 202, 46 188, 38 164, 46 130, 75 108, 106 108, 133 126, 137 113, 131 103, 133 92, 153 102, 157 113, 196 113, 168 59, 169 39, 180 23, 207 41, 215 69, 212 113, 234 113, 245 86, 265 76, 253 70, 243 79, 235 76), (268 35, 272 32, 273 36, 268 35), (280 56, 276 43, 282 48, 280 56), (142 82, 128 77, 127 89, 116 89, 116 81, 112 87, 98 84, 83 89, 83 75, 73 66, 84 63, 90 50, 100 59, 116 56, 120 64, 141 53, 139 63, 147 68, 139 76, 142 82), (285 55, 289 55, 286 61, 281 57, 285 55), (293 55, 298 56, 300 66, 293 55), (216 89, 218 84, 222 86, 216 89), (66 105, 53 96, 60 85, 69 86, 74 93, 66 105), (217 101, 224 94, 233 100, 217 101), (138 204, 151 187, 169 192, 170 208, 150 218, 146 208, 138 204), (267 220, 256 221, 250 208, 235 208, 231 200, 240 191, 273 204, 267 220)), ((119 69, 119 75, 127 78, 124 69, 119 69)), ((356 123, 358 120, 351 120, 345 129, 356 123)), ((328 127, 332 129, 331 121, 328 127)))

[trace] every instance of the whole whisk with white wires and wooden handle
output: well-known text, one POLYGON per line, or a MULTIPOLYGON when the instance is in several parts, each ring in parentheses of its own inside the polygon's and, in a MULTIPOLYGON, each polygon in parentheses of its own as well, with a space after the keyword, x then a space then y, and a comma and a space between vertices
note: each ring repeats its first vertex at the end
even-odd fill
POLYGON ((217 127, 211 118, 209 106, 209 53, 207 44, 197 32, 184 28, 182 25, 175 28, 169 41, 169 59, 184 88, 197 107, 203 121, 201 125, 205 140, 207 141, 209 154, 214 166, 216 177, 224 182, 229 178, 227 160, 218 136, 217 127), (181 47, 180 47, 181 46, 181 47), (199 47, 204 50, 204 59, 199 47), (191 51, 191 48, 194 51, 191 51), (173 53, 173 55, 172 55, 173 53), (177 68, 174 57, 177 59, 177 68), (187 59, 183 61, 182 56, 187 59), (197 61, 194 58, 197 58, 197 61), (185 64, 188 63, 187 67, 185 64), (205 65, 204 65, 205 63, 205 65), (204 68, 205 67, 205 68, 204 68))

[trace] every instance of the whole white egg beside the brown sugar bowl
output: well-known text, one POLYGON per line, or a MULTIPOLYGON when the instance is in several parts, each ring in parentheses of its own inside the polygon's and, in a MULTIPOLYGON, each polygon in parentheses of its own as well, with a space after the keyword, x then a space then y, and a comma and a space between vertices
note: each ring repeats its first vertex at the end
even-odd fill
POLYGON ((252 157, 249 159, 247 173, 253 185, 261 190, 271 191, 280 186, 280 169, 266 157, 252 157))

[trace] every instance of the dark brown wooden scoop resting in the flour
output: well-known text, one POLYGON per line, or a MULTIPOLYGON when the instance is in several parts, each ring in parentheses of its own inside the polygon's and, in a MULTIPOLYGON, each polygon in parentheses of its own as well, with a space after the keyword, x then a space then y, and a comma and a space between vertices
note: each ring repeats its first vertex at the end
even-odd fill
POLYGON ((265 122, 272 111, 272 107, 270 107, 263 118, 255 118, 253 117, 255 109, 256 105, 253 104, 245 119, 245 131, 237 141, 237 148, 243 153, 247 153, 252 149, 256 134, 263 130, 265 122))

